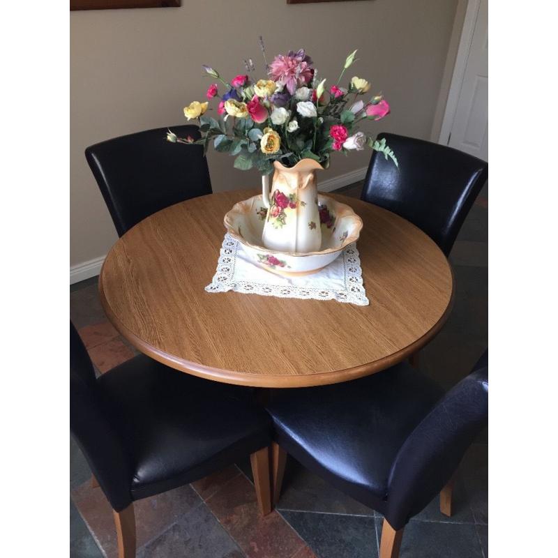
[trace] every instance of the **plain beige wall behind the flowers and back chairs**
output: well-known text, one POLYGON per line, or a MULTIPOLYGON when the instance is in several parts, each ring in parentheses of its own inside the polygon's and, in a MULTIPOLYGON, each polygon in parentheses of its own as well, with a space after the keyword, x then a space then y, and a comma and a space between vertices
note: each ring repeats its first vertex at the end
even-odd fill
MULTIPOLYGON (((458 0, 365 0, 287 5, 286 0, 182 0, 181 8, 70 14, 70 265, 101 257, 116 233, 84 149, 126 133, 183 122, 182 107, 202 100, 209 64, 227 77, 242 59, 305 47, 319 73, 336 80, 359 49, 349 75, 381 90, 392 113, 370 131, 428 139, 435 116, 458 0)), ((184 149, 188 149, 187 146, 184 149)), ((370 152, 334 156, 328 178, 368 165, 370 152)), ((209 155, 213 190, 257 186, 255 172, 209 155)))

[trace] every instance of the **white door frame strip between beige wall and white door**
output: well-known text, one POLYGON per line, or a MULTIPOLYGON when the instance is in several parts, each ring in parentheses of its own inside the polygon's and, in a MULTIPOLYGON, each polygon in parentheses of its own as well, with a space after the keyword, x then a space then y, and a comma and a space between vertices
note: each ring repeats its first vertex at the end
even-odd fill
POLYGON ((455 119, 455 111, 458 107, 459 93, 465 77, 465 68, 471 52, 473 42, 473 33, 475 31, 476 20, 478 18, 478 9, 481 7, 481 0, 468 0, 465 19, 461 29, 461 38, 459 41, 458 54, 455 56, 455 65, 453 66, 453 74, 451 76, 451 85, 448 92, 448 100, 446 101, 446 109, 444 110, 444 118, 442 119, 442 128, 439 133, 438 143, 447 145, 453 119, 455 119))

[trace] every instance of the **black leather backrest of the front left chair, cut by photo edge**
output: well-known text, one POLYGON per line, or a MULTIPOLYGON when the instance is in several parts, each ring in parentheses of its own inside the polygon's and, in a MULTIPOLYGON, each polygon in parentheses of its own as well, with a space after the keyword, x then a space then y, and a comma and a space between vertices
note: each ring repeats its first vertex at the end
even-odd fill
POLYGON ((112 508, 132 502, 130 465, 86 348, 70 322, 70 430, 112 508))

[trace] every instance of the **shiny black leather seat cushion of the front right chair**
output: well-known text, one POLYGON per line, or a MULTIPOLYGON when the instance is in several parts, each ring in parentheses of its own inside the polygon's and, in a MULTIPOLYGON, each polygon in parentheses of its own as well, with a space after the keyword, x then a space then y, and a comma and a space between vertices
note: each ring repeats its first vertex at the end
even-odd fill
POLYGON ((267 410, 282 448, 378 509, 395 455, 442 395, 435 382, 400 363, 352 382, 274 391, 267 410))

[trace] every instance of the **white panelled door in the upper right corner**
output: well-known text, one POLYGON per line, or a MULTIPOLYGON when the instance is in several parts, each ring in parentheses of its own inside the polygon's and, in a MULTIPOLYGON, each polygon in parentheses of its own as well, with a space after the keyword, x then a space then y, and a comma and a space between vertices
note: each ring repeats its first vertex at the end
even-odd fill
MULTIPOLYGON (((488 160, 488 0, 469 0, 476 21, 448 145, 488 160)), ((453 84, 452 84, 453 86, 453 84)))

